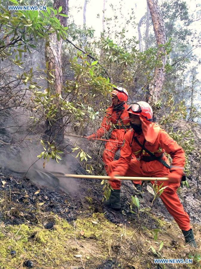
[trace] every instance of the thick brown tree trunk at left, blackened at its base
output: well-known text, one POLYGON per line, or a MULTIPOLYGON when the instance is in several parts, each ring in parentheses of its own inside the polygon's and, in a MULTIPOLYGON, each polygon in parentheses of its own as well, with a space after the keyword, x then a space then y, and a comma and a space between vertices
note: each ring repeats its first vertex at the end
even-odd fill
MULTIPOLYGON (((58 10, 60 6, 62 6, 62 13, 68 15, 68 0, 54 0, 54 9, 58 10)), ((61 25, 66 27, 67 17, 57 16, 57 18, 60 20, 61 25)), ((58 98, 54 100, 58 112, 54 119, 51 118, 46 121, 45 134, 46 140, 55 140, 57 143, 61 143, 63 140, 63 118, 59 107, 59 95, 61 95, 63 86, 61 69, 62 41, 62 39, 58 41, 56 33, 52 33, 45 44, 48 89, 50 90, 50 94, 58 94, 58 98), (53 80, 53 83, 51 83, 50 80, 53 80)))

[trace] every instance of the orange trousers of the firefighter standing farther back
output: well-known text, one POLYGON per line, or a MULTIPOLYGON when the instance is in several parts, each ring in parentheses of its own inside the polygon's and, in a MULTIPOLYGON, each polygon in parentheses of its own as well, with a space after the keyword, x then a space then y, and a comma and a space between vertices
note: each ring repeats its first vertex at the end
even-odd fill
POLYGON ((105 149, 103 151, 103 162, 104 162, 104 167, 107 174, 108 174, 108 165, 110 162, 114 161, 115 153, 119 149, 121 150, 122 144, 123 142, 120 142, 120 143, 107 142, 105 144, 105 149))

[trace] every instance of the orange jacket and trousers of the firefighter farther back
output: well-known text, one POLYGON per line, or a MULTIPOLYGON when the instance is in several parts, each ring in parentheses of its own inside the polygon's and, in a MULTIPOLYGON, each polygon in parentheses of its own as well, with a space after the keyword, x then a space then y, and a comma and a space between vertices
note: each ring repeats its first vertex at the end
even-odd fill
POLYGON ((101 127, 95 133, 96 137, 100 138, 107 133, 111 127, 114 127, 110 139, 115 139, 118 142, 106 142, 105 150, 103 151, 103 162, 107 174, 108 164, 114 160, 115 153, 121 149, 124 135, 130 128, 130 119, 127 112, 129 106, 124 103, 123 107, 125 109, 120 110, 119 112, 113 110, 112 106, 108 107, 106 115, 101 123, 101 127))

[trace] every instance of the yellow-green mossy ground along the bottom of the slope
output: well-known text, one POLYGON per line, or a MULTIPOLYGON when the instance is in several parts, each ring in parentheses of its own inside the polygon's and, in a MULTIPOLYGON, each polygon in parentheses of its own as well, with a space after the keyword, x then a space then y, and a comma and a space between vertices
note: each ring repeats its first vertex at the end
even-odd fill
MULTIPOLYGON (((165 221, 152 215, 151 217, 157 221, 159 226, 167 225, 165 221)), ((81 259, 76 257, 78 254, 82 255, 83 263, 87 261, 89 268, 96 268, 100 264, 100 260, 104 261, 109 257, 115 258, 116 247, 119 245, 121 253, 126 250, 120 259, 120 264, 125 264, 125 261, 133 255, 133 249, 128 248, 131 240, 137 248, 136 257, 140 256, 140 253, 148 251, 151 245, 156 249, 160 245, 160 242, 156 246, 153 245, 153 242, 150 241, 152 240, 150 237, 152 238, 153 235, 151 232, 148 233, 147 228, 136 229, 137 225, 132 228, 127 227, 127 225, 120 227, 108 221, 103 213, 94 213, 89 218, 80 218, 71 224, 57 215, 54 215, 53 219, 55 222, 53 230, 46 230, 41 224, 36 227, 27 224, 5 225, 1 228, 0 268, 23 268, 23 262, 27 259, 33 261, 36 269, 68 268, 69 264, 81 265, 81 259), (81 235, 81 231, 84 231, 83 235, 81 235), (16 250, 15 256, 11 256, 11 250, 16 250)), ((50 215, 48 215, 48 220, 50 220, 50 215)), ((168 232, 163 234, 163 238, 160 238, 166 242, 163 246, 165 249, 164 258, 169 258, 166 253, 168 255, 171 253, 172 257, 181 256, 183 249, 170 249, 169 238, 171 235, 168 232)), ((117 259, 119 257, 120 254, 118 254, 117 259)), ((142 260, 140 260, 139 264, 136 264, 137 268, 145 268, 146 264, 147 268, 152 268, 150 259, 153 260, 153 256, 148 253, 146 260, 144 260, 145 264, 141 266, 140 261, 142 260)))

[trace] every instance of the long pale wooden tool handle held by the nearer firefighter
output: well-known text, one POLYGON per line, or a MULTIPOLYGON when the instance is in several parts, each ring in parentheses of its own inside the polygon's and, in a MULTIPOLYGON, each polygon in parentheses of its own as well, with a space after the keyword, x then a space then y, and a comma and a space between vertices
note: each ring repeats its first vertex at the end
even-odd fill
MULTIPOLYGON (((62 174, 62 173, 57 173, 57 172, 52 172, 52 174, 55 177, 73 177, 73 178, 88 178, 88 179, 106 179, 110 180, 110 177, 108 176, 93 176, 93 175, 75 175, 75 174, 62 174)), ((158 180, 158 181, 167 181, 168 177, 116 177, 117 179, 120 180, 144 180, 144 181, 153 181, 153 180, 158 180)))

